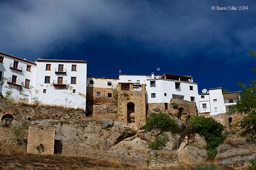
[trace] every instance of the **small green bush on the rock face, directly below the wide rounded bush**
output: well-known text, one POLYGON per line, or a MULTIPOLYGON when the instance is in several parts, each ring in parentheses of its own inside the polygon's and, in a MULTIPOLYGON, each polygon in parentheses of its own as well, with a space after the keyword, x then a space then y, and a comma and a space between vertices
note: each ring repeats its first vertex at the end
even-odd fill
POLYGON ((161 150, 163 147, 166 147, 166 143, 169 141, 169 138, 163 135, 159 135, 155 137, 155 141, 151 142, 147 141, 148 149, 152 150, 161 150))

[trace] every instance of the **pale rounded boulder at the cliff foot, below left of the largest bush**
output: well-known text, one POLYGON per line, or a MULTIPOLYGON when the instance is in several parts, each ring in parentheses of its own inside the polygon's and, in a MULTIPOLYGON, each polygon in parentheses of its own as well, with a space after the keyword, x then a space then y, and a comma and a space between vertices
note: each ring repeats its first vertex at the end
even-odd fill
POLYGON ((195 146, 186 146, 181 152, 178 153, 178 161, 180 163, 187 162, 204 162, 207 159, 207 151, 195 146))

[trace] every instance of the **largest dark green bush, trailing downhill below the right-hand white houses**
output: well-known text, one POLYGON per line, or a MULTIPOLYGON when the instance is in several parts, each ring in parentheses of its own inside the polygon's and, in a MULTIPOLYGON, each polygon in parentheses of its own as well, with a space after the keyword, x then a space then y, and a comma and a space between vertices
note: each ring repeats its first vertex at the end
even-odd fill
POLYGON ((207 142, 208 156, 217 154, 216 147, 223 144, 225 138, 222 135, 224 126, 212 117, 193 115, 187 120, 187 124, 194 131, 204 136, 207 142))

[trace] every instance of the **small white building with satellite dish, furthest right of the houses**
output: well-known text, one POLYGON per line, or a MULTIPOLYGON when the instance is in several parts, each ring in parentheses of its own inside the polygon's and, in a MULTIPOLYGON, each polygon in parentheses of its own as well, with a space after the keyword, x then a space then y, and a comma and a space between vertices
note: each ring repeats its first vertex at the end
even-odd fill
POLYGON ((203 90, 200 96, 199 112, 210 113, 210 115, 224 114, 230 105, 235 105, 240 92, 222 93, 222 88, 203 90))

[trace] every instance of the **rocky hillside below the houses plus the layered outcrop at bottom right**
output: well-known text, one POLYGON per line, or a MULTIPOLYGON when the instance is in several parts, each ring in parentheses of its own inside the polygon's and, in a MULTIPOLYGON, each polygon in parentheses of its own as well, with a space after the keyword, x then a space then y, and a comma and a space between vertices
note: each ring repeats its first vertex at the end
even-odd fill
MULTIPOLYGON (((54 153, 57 154, 113 159, 142 167, 199 163, 208 158, 204 148, 206 146, 204 137, 191 133, 189 127, 179 119, 175 119, 178 128, 174 133, 161 132, 158 129, 146 132, 143 129, 145 122, 136 125, 107 118, 86 117, 82 110, 12 104, 4 100, 1 100, 0 108, 2 116, 5 114, 14 116, 13 125, 26 126, 27 117, 31 117, 31 127, 54 127, 54 153), (147 141, 154 141, 155 137, 161 135, 169 138, 166 147, 162 150, 149 150, 147 141)), ((9 144, 10 128, 1 126, 0 131, 1 142, 9 144)), ((246 167, 247 160, 254 156, 254 151, 255 148, 245 144, 244 141, 225 143, 218 148, 215 163, 229 168, 240 165, 246 167), (238 158, 239 161, 236 161, 238 158)))

